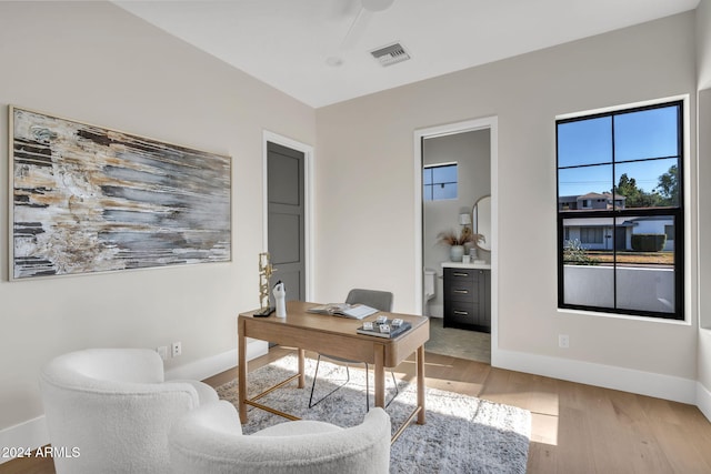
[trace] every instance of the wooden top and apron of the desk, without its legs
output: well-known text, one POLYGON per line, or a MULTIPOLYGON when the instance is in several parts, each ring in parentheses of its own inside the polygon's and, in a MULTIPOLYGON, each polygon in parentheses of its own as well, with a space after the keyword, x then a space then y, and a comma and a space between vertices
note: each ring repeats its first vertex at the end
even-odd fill
POLYGON ((318 305, 290 301, 287 303, 287 317, 277 317, 273 313, 269 317, 254 317, 254 311, 251 311, 241 313, 240 320, 244 320, 248 325, 248 337, 368 363, 374 363, 372 346, 380 345, 383 347, 387 367, 394 367, 430 339, 430 320, 424 316, 378 312, 362 320, 353 320, 307 311, 318 305), (356 332, 364 321, 375 321, 379 314, 408 321, 412 329, 393 339, 356 332))

